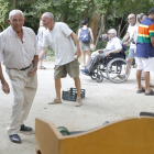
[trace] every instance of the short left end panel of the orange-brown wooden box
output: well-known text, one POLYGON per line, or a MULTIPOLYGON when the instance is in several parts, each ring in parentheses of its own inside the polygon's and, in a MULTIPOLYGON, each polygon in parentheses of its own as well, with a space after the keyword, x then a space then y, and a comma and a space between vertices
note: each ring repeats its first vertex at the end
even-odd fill
POLYGON ((35 140, 42 154, 58 154, 61 139, 63 136, 53 123, 35 120, 35 140))

